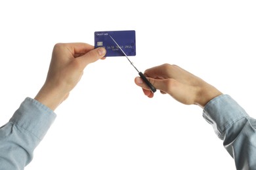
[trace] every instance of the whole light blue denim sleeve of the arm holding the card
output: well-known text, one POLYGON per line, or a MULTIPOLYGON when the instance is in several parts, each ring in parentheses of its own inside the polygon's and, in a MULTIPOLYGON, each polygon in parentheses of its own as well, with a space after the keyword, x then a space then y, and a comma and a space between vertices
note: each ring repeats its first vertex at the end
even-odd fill
POLYGON ((55 118, 51 109, 27 97, 0 127, 0 169, 24 169, 55 118))

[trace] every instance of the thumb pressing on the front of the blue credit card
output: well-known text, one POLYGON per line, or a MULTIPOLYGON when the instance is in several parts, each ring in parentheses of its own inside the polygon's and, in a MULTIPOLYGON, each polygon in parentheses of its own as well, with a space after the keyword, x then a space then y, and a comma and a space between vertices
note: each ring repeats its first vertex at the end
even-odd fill
POLYGON ((81 60, 81 62, 84 63, 84 65, 86 66, 89 63, 93 63, 98 59, 103 58, 105 54, 106 54, 106 49, 103 47, 100 47, 87 52, 86 54, 84 54, 83 56, 80 56, 77 59, 81 60))

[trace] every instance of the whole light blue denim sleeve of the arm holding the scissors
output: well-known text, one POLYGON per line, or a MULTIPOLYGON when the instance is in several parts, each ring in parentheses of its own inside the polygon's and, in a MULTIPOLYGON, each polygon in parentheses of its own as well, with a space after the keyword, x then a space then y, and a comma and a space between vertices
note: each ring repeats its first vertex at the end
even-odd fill
POLYGON ((223 140, 224 148, 234 158, 236 169, 256 169, 256 120, 232 97, 215 97, 203 110, 203 118, 223 140))

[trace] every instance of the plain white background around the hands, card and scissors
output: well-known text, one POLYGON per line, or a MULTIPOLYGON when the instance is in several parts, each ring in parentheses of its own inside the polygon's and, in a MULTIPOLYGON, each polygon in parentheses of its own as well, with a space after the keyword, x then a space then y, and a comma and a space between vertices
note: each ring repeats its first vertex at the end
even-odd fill
MULTIPOLYGON (((0 124, 47 75, 56 42, 134 29, 140 71, 171 63, 255 111, 255 1, 1 1, 0 124)), ((125 58, 85 69, 26 169, 235 169, 202 109, 148 99, 125 58)))

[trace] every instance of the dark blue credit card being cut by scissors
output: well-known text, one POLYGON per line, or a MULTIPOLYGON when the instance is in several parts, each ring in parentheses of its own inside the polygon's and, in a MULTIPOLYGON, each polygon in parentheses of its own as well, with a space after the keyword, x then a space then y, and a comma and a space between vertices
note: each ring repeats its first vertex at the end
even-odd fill
POLYGON ((136 56, 135 30, 95 31, 95 48, 106 48, 106 57, 125 56, 110 36, 127 56, 136 56))

